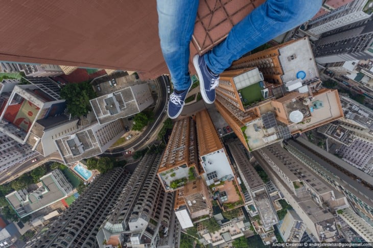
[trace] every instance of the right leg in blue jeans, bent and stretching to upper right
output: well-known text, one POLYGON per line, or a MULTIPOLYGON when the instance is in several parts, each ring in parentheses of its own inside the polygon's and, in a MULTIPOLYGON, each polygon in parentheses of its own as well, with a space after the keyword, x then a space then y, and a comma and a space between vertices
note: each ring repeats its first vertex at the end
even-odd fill
POLYGON ((321 0, 267 0, 235 25, 227 38, 204 54, 207 67, 220 74, 245 53, 311 19, 321 0))

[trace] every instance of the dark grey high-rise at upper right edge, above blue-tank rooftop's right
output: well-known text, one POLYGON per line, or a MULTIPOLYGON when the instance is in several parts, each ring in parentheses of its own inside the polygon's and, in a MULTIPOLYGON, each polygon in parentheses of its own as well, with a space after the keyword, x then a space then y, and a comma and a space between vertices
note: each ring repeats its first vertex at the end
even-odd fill
POLYGON ((373 18, 324 33, 313 48, 317 63, 373 58, 373 18))

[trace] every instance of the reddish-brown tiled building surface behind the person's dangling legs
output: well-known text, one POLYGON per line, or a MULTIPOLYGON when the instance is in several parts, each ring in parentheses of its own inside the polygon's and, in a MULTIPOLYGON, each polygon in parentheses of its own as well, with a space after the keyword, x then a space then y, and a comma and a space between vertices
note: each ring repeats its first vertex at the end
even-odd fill
MULTIPOLYGON (((211 49, 263 2, 201 0, 191 53, 211 49)), ((169 73, 156 1, 5 1, 0 20, 7 23, 0 27, 3 61, 137 71, 143 79, 169 73)))

